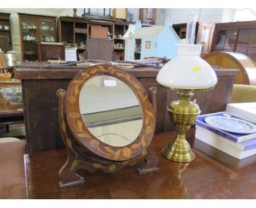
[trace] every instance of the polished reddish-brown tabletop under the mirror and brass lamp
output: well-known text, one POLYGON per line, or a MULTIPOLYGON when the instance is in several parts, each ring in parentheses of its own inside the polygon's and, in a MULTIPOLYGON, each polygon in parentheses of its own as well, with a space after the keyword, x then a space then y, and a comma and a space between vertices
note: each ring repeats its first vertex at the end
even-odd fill
MULTIPOLYGON (((191 146, 194 129, 187 133, 191 146)), ((152 149, 159 158, 159 172, 140 175, 135 167, 114 174, 80 171, 85 185, 61 189, 58 171, 66 150, 25 155, 28 199, 256 199, 256 155, 237 160, 195 140, 196 155, 190 163, 177 163, 161 155, 175 132, 155 134, 152 149), (204 153, 205 152, 205 153, 204 153)), ((139 166, 139 163, 138 163, 139 166)))

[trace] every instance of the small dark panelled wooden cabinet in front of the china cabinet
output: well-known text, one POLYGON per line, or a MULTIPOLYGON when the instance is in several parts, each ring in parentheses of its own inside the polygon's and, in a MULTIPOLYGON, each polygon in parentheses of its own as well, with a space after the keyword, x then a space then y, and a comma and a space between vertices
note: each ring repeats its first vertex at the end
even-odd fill
POLYGON ((65 60, 65 44, 62 42, 38 42, 39 62, 65 60))

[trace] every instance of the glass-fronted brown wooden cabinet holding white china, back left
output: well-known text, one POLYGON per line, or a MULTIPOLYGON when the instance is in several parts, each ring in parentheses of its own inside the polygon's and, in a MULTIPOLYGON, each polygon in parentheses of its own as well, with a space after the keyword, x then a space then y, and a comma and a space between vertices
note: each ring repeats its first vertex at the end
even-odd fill
POLYGON ((56 42, 56 17, 19 14, 21 52, 25 61, 39 60, 38 41, 56 42))

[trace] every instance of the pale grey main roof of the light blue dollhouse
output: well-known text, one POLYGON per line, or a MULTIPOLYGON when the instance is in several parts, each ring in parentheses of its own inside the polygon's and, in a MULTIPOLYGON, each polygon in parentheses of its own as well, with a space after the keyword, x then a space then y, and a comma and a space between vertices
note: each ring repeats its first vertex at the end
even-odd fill
POLYGON ((158 38, 167 29, 173 30, 173 34, 178 37, 176 32, 171 26, 154 26, 154 27, 143 27, 135 30, 135 39, 142 38, 158 38))

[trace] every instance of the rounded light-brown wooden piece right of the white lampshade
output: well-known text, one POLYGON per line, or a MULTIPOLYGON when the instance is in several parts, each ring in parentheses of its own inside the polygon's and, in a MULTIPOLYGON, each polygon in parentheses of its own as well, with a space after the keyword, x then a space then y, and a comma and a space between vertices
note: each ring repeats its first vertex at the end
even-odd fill
POLYGON ((240 73, 235 77, 234 84, 256 85, 256 64, 251 58, 236 52, 211 52, 203 56, 212 66, 222 69, 238 69, 240 73))

